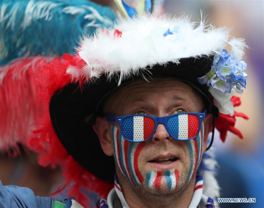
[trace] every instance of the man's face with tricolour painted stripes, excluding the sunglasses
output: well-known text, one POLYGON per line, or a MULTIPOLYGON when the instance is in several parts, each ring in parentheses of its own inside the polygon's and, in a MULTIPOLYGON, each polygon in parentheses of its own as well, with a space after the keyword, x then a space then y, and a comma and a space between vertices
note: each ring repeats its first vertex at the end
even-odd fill
MULTIPOLYGON (((189 85, 155 77, 150 83, 138 79, 123 86, 109 97, 104 111, 116 116, 167 116, 200 113, 204 104, 189 85)), ((203 128, 195 139, 180 141, 159 124, 152 138, 138 143, 125 140, 117 123, 109 125, 119 180, 122 177, 126 185, 153 194, 173 193, 189 185, 202 158, 203 128)))

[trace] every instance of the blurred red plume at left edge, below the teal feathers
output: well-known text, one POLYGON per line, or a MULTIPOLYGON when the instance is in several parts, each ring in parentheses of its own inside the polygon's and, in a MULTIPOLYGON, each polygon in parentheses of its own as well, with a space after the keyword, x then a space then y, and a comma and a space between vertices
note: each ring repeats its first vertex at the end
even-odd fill
POLYGON ((26 146, 26 139, 34 129, 33 123, 42 112, 40 93, 33 68, 41 57, 16 59, 0 71, 0 138, 1 151, 17 156, 17 142, 26 146), (11 153, 12 149, 13 153, 11 153))

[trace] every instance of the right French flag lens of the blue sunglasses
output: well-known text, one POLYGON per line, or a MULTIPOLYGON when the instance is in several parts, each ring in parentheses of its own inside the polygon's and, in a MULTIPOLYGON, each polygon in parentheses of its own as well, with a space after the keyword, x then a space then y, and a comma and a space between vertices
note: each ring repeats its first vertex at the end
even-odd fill
POLYGON ((168 119, 169 133, 177 139, 190 139, 199 132, 199 118, 197 115, 180 114, 168 119))

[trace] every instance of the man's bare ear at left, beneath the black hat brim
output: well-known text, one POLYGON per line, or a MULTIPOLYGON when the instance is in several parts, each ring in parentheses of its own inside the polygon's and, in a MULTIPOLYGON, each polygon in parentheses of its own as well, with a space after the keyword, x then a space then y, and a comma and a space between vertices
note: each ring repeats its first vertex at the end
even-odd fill
POLYGON ((94 132, 97 134, 104 154, 107 156, 114 155, 114 149, 111 137, 111 128, 105 117, 97 116, 95 125, 93 125, 94 132))

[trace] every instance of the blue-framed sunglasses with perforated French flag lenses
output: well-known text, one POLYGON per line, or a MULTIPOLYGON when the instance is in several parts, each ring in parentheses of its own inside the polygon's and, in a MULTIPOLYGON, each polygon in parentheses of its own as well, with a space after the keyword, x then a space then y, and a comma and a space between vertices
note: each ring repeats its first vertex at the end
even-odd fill
POLYGON ((125 115, 115 116, 105 114, 107 121, 117 122, 120 125, 124 139, 132 142, 146 141, 153 137, 158 124, 163 124, 170 136, 177 140, 189 140, 198 136, 203 113, 176 113, 168 116, 157 117, 150 115, 125 115))

